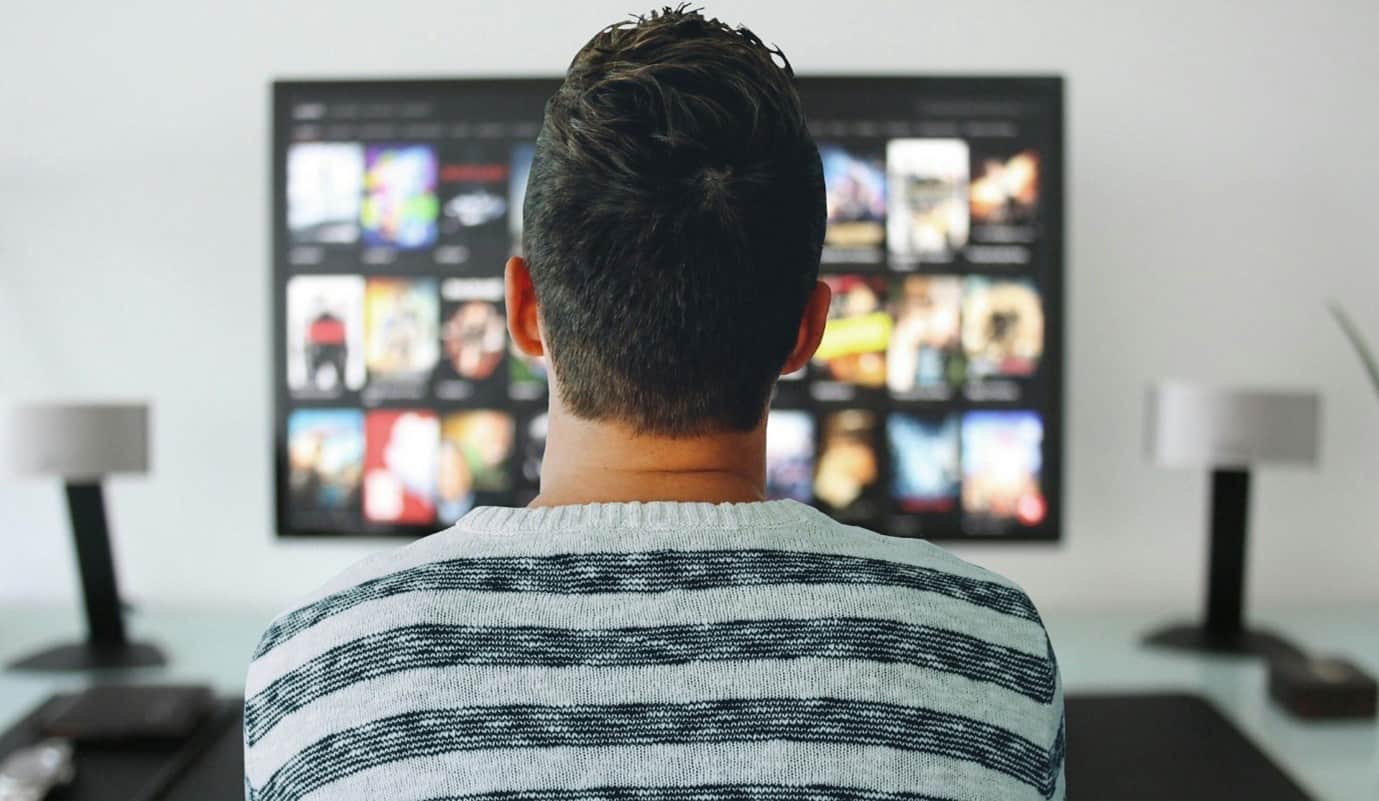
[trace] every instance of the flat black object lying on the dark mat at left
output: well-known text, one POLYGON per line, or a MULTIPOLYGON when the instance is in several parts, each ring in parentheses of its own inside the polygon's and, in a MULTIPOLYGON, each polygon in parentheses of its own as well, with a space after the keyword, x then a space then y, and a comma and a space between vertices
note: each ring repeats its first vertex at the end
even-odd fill
POLYGON ((99 685, 55 704, 40 729, 76 742, 185 740, 214 709, 204 685, 99 685))

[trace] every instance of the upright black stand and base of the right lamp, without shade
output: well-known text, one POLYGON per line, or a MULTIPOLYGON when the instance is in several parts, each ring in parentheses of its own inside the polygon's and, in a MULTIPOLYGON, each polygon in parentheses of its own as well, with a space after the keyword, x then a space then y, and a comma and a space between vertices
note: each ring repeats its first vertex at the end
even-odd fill
POLYGON ((1300 656, 1287 640, 1245 629, 1245 529, 1249 517, 1249 473, 1214 470, 1211 476, 1211 553, 1204 623, 1183 623, 1151 631, 1149 645, 1211 653, 1300 656))

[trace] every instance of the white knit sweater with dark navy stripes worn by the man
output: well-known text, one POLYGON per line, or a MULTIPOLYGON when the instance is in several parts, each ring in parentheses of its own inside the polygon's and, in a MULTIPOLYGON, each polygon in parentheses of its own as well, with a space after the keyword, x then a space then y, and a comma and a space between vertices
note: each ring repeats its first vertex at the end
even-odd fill
POLYGON ((792 502, 470 511, 279 616, 251 801, 1060 800, 1011 582, 792 502))

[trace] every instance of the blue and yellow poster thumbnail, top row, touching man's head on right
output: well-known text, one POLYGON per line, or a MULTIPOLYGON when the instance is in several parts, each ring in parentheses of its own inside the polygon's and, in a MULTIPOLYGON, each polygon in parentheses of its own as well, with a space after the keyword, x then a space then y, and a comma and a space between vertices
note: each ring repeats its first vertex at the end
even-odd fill
POLYGON ((821 145, 827 229, 825 263, 872 265, 884 259, 885 164, 880 154, 821 145))

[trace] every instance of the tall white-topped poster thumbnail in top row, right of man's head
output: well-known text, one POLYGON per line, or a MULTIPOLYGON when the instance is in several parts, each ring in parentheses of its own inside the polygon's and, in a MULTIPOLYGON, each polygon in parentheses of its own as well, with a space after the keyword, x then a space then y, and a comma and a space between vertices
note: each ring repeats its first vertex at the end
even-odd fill
POLYGON ((892 139, 885 170, 885 239, 894 265, 952 262, 971 227, 967 142, 892 139))

